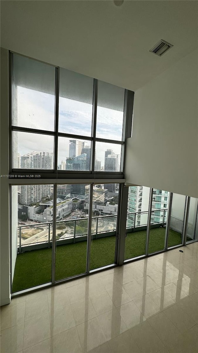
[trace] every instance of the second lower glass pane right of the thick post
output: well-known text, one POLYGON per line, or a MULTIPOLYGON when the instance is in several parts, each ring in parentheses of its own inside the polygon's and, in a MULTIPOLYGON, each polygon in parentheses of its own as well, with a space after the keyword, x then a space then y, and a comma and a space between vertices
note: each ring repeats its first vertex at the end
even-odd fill
POLYGON ((168 199, 168 197, 169 193, 165 190, 153 189, 148 249, 149 254, 164 249, 167 217, 167 204, 164 203, 164 200, 165 198, 168 199), (157 196, 159 194, 160 196, 157 196))

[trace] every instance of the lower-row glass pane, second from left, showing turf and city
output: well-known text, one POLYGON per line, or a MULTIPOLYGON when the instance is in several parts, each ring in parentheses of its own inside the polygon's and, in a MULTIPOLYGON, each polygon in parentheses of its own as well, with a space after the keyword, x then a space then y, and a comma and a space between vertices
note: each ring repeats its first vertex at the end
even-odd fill
POLYGON ((55 281, 86 272, 89 189, 57 185, 55 281))

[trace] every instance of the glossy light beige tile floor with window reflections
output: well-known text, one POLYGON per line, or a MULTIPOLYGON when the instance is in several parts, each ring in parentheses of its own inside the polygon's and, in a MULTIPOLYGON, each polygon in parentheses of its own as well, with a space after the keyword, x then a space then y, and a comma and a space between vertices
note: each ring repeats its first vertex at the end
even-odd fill
POLYGON ((0 318, 1 353, 197 353, 198 243, 12 299, 0 318))

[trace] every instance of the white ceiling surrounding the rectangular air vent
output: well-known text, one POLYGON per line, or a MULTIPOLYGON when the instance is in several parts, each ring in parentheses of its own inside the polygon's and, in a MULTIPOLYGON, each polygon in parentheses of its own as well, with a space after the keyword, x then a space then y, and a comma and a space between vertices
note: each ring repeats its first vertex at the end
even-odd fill
POLYGON ((197 1, 1 1, 1 46, 137 90, 198 46, 197 1), (161 58, 149 49, 173 44, 161 58))

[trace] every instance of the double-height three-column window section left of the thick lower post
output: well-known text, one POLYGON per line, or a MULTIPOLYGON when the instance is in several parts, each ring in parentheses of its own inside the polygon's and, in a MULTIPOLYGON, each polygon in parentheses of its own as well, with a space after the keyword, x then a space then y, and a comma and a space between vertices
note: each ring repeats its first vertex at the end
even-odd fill
POLYGON ((10 62, 16 292, 115 264, 134 92, 18 54, 10 62))

